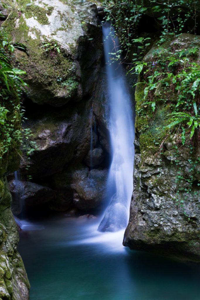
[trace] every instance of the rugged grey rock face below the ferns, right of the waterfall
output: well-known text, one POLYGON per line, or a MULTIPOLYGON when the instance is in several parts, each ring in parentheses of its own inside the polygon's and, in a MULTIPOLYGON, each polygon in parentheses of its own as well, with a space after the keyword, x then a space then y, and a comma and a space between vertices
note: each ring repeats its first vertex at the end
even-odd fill
MULTIPOLYGON (((181 51, 199 41, 199 37, 182 35, 165 44, 165 49, 176 45, 177 51, 181 51)), ((147 54, 145 61, 154 61, 154 50, 147 54)), ((137 86, 136 109, 139 109, 143 96, 143 87, 137 86)), ((198 160, 199 153, 191 153, 192 142, 188 136, 183 146, 179 134, 166 135, 164 126, 168 114, 166 108, 158 104, 150 121, 144 116, 136 116, 134 191, 123 244, 131 249, 199 262, 200 195, 197 183, 200 166, 192 167, 189 159, 198 160), (158 146, 153 140, 158 141, 158 146)))

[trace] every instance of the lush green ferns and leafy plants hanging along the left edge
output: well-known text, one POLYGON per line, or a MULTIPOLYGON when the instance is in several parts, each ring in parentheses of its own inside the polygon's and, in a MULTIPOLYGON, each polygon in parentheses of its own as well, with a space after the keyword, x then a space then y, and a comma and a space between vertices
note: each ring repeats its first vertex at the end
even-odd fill
MULTIPOLYGON (((19 46, 19 45, 17 45, 19 46)), ((23 144, 23 137, 31 136, 30 129, 23 129, 25 121, 24 110, 20 104, 22 91, 27 86, 20 75, 26 72, 13 68, 10 64, 11 53, 14 51, 12 43, 8 42, 3 29, 0 30, 0 160, 13 147, 23 144)), ((19 154, 20 155, 20 154, 19 154)))

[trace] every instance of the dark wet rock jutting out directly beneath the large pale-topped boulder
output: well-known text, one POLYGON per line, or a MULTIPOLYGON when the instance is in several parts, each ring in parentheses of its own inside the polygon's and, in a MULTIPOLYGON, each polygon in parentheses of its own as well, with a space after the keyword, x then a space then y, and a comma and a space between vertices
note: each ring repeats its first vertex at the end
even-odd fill
POLYGON ((48 177, 72 161, 81 162, 90 149, 90 106, 91 100, 88 100, 62 110, 45 107, 45 111, 37 116, 33 111, 25 127, 32 130, 29 143, 34 143, 36 151, 31 153, 28 161, 24 153, 21 174, 28 173, 33 178, 48 177), (28 171, 27 164, 30 166, 28 171))

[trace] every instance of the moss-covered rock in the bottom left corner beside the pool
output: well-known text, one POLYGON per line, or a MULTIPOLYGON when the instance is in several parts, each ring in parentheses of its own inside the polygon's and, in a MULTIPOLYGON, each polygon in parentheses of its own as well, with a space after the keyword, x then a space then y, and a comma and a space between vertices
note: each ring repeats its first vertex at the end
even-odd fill
POLYGON ((17 252, 19 233, 10 209, 11 195, 5 177, 0 179, 0 298, 29 299, 29 282, 17 252))

